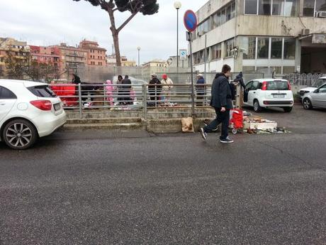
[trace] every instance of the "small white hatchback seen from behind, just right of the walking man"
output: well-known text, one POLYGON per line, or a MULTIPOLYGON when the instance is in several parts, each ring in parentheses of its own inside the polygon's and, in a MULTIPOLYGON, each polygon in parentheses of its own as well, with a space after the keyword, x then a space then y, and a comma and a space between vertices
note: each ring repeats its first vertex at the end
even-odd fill
POLYGON ((256 112, 270 107, 281 107, 290 112, 294 101, 290 82, 271 78, 247 82, 243 100, 245 105, 254 107, 256 112))

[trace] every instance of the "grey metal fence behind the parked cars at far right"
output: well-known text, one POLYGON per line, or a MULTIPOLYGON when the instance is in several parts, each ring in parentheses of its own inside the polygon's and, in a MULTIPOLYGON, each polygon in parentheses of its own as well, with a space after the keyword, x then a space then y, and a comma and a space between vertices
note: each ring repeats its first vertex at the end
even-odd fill
POLYGON ((326 74, 283 74, 274 75, 275 78, 281 78, 291 82, 291 85, 295 86, 313 86, 316 85, 320 77, 326 77, 326 74))

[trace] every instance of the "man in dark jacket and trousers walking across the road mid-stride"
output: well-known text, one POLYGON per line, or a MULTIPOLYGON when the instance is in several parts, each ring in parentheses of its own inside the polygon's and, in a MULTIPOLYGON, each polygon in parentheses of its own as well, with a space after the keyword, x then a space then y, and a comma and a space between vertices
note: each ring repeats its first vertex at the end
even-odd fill
POLYGON ((208 126, 201 128, 201 136, 204 140, 206 140, 208 132, 216 129, 218 124, 222 123, 220 143, 233 143, 228 136, 230 109, 233 109, 232 93, 228 80, 228 77, 231 75, 230 72, 231 67, 229 65, 223 65, 222 73, 216 74, 213 80, 210 106, 215 109, 216 119, 208 126))

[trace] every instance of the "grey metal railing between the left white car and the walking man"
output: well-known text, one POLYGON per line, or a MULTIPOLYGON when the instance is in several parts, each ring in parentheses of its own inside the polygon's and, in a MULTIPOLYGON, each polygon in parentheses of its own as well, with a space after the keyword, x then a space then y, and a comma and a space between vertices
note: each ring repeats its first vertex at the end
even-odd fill
POLYGON ((163 109, 185 109, 171 114, 195 114, 194 109, 208 107, 211 85, 192 87, 189 84, 173 85, 90 85, 62 84, 50 85, 64 104, 64 109, 79 111, 80 118, 87 110, 108 110, 130 114, 141 112, 147 119, 147 113, 161 114, 163 109))

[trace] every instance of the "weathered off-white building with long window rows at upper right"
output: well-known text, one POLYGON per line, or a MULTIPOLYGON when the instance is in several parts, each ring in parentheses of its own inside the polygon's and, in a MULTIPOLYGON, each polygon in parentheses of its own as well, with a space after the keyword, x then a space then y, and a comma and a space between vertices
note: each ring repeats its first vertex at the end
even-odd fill
POLYGON ((326 73, 326 0, 210 0, 196 15, 199 72, 326 73))

